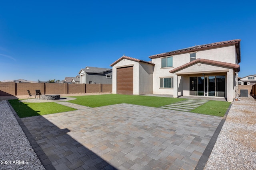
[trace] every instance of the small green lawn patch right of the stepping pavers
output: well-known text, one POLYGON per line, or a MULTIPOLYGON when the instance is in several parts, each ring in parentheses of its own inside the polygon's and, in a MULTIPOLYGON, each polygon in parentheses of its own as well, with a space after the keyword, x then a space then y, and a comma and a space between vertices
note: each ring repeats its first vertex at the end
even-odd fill
POLYGON ((210 100, 209 102, 191 110, 190 112, 223 117, 230 104, 230 102, 210 100))

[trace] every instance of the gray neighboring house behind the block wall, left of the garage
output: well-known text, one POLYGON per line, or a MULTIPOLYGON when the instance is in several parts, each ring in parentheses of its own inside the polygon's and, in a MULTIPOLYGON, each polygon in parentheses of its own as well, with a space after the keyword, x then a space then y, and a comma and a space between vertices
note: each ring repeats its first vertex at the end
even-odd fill
POLYGON ((112 84, 112 68, 89 67, 82 68, 79 73, 80 83, 112 84))

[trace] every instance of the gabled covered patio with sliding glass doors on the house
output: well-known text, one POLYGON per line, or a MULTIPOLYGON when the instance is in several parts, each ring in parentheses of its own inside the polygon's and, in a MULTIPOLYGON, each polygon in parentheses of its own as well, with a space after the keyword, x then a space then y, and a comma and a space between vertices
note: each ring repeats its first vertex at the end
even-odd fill
POLYGON ((170 73, 174 74, 174 98, 178 96, 235 97, 238 64, 196 59, 170 73))

